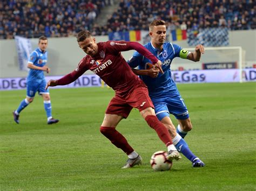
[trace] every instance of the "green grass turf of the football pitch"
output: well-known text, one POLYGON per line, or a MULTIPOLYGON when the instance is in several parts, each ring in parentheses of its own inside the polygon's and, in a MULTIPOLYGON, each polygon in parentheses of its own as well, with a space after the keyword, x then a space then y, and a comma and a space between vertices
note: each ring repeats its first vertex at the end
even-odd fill
POLYGON ((165 146, 134 109, 118 130, 144 162, 120 169, 126 155, 99 132, 110 89, 51 89, 54 125, 39 96, 15 124, 11 112, 25 90, 0 91, 0 190, 255 190, 256 83, 178 88, 193 124, 186 141, 204 168, 183 157, 171 171, 154 172, 151 154, 165 146))

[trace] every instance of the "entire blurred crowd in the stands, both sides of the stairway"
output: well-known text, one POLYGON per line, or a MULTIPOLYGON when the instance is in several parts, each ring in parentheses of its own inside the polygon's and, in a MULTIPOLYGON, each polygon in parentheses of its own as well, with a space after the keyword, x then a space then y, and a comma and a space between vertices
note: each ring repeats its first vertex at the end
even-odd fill
POLYGON ((120 0, 119 8, 99 26, 107 0, 11 0, 0 2, 0 38, 74 36, 88 29, 93 35, 112 31, 148 30, 153 19, 164 19, 170 30, 228 27, 256 29, 255 0, 120 0))

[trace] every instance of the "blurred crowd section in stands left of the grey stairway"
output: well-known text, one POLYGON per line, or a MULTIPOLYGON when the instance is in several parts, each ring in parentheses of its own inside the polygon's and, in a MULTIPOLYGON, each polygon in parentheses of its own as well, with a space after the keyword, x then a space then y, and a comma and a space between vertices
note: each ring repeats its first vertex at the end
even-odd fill
POLYGON ((37 38, 74 36, 91 29, 108 0, 8 0, 0 1, 0 39, 15 35, 37 38))

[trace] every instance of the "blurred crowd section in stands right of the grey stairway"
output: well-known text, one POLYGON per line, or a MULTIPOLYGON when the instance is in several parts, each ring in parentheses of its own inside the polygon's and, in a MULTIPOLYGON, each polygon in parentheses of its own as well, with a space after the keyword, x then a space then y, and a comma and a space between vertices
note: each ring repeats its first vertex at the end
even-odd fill
POLYGON ((153 19, 167 21, 172 29, 228 27, 256 29, 256 1, 253 0, 121 0, 107 22, 113 31, 148 30, 153 19))

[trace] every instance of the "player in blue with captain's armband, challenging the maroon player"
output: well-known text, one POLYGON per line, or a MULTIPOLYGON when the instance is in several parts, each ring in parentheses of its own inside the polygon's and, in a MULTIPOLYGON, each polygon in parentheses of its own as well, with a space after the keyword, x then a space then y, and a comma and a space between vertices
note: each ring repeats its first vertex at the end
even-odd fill
POLYGON ((160 74, 159 69, 152 67, 150 60, 138 52, 134 52, 132 58, 127 62, 132 68, 139 67, 139 70, 133 69, 133 72, 140 75, 147 85, 156 115, 169 130, 177 150, 192 162, 193 167, 203 167, 205 166, 204 162, 191 152, 183 139, 192 129, 192 124, 184 100, 179 94, 176 83, 172 80, 170 65, 176 57, 199 61, 201 53, 204 53, 204 46, 197 45, 194 52, 188 52, 179 45, 165 43, 166 25, 164 20, 153 20, 149 29, 151 42, 144 46, 162 62, 161 67, 164 74, 160 74), (170 119, 170 114, 178 119, 177 130, 170 119))

